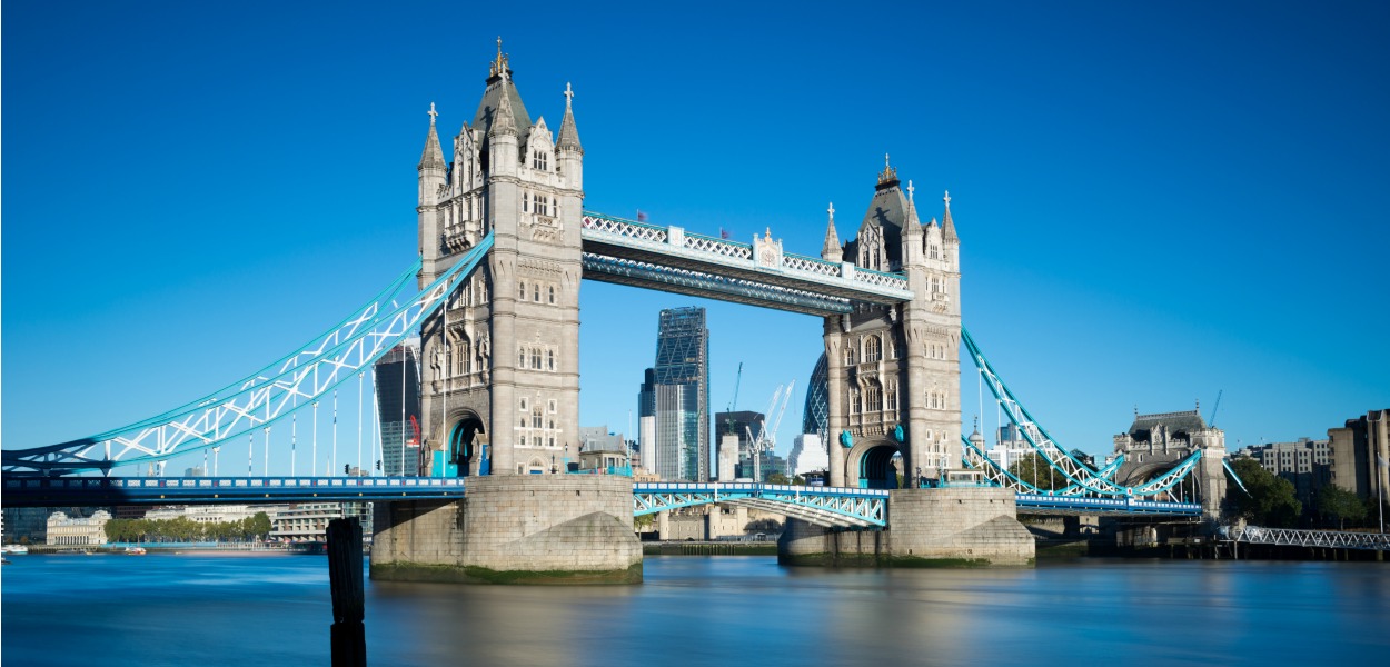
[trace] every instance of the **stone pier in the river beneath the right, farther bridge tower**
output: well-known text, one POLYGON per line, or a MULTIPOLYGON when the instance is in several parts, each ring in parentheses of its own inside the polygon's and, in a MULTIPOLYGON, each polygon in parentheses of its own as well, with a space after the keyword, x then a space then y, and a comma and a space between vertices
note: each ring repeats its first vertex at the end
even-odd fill
POLYGON ((835 531, 788 518, 777 560, 851 567, 1029 566, 1033 535, 1016 517, 1008 489, 898 489, 888 493, 888 528, 883 531, 835 531))

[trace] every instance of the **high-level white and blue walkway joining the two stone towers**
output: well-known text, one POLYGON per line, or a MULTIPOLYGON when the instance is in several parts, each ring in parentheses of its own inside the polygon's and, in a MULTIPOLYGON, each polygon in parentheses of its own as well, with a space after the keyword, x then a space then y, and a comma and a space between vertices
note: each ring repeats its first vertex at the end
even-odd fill
POLYGON ((584 277, 602 282, 821 317, 912 300, 901 274, 783 253, 771 239, 755 247, 600 213, 584 214, 580 238, 584 277))

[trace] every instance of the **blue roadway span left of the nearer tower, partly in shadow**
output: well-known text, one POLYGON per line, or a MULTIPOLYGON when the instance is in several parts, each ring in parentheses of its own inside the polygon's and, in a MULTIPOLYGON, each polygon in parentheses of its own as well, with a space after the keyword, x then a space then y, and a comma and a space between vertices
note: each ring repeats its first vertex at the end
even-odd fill
POLYGON ((438 477, 7 477, 6 507, 448 500, 464 478, 438 477))

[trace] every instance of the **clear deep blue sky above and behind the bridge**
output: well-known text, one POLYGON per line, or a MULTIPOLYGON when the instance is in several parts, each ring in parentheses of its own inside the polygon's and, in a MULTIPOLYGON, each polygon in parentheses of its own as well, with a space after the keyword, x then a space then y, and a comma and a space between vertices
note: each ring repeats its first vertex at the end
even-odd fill
MULTIPOLYGON (((200 396, 396 275, 425 111, 473 118, 498 35, 532 118, 573 83, 589 210, 816 254, 884 153, 926 214, 949 189, 966 327, 1063 446, 1219 390, 1230 447, 1390 407, 1390 6, 922 4, 7 1, 3 446, 200 396)), ((796 381, 785 452, 817 320, 592 282, 584 424, 627 431, 685 304, 713 409, 739 361, 741 409, 796 381)))

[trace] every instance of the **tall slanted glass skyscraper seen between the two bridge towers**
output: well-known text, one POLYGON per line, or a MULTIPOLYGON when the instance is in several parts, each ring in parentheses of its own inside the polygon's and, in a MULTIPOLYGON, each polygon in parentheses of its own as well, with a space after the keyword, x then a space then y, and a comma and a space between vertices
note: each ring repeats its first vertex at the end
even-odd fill
POLYGON ((642 461, 663 479, 709 481, 709 329, 705 308, 663 310, 656 365, 638 396, 653 417, 652 457, 642 461))

